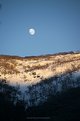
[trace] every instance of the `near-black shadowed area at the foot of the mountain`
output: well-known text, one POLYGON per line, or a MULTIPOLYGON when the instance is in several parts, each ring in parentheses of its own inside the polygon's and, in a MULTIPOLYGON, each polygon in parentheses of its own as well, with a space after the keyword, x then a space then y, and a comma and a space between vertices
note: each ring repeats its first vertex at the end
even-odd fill
POLYGON ((80 87, 67 88, 51 95, 45 103, 27 109, 24 101, 15 103, 16 94, 20 93, 18 88, 2 80, 0 89, 0 121, 27 121, 30 117, 49 117, 51 121, 80 120, 80 87))

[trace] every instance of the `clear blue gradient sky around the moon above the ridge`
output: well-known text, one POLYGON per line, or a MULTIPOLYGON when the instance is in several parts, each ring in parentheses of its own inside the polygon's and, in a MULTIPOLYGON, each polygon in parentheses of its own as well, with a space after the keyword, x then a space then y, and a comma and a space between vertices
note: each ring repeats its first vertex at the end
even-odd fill
POLYGON ((80 0, 0 0, 0 54, 80 50, 80 0), (29 35, 28 29, 36 34, 29 35))

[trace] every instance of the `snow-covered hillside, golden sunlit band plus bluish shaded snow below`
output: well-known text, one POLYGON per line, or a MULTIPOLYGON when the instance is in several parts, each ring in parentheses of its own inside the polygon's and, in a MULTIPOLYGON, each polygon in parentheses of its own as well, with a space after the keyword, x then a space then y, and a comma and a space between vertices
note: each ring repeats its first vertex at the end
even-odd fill
POLYGON ((44 102, 50 89, 51 93, 55 87, 57 91, 61 90, 61 81, 69 77, 73 80, 80 77, 79 52, 34 57, 0 56, 0 80, 5 79, 12 86, 19 85, 19 99, 24 97, 28 105, 36 92, 35 105, 44 102))

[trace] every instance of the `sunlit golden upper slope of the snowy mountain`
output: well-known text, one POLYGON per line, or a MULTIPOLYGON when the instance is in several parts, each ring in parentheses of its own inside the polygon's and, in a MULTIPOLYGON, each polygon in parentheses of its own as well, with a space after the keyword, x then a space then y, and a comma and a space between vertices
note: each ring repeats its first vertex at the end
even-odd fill
POLYGON ((0 56, 0 79, 12 84, 34 84, 56 74, 78 71, 80 53, 18 58, 0 56))

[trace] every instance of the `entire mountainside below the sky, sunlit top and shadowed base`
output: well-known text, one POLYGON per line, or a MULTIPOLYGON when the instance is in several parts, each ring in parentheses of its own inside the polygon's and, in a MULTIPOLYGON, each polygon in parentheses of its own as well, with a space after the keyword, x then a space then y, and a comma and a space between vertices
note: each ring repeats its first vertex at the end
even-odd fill
POLYGON ((0 56, 0 121, 78 121, 79 102, 79 52, 0 56))

